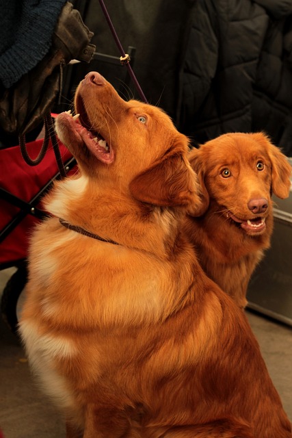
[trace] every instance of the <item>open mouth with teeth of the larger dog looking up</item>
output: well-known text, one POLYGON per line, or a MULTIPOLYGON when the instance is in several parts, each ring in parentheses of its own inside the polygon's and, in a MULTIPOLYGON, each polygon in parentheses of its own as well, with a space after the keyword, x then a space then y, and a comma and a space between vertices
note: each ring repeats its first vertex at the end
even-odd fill
POLYGON ((70 110, 65 112, 68 118, 70 118, 72 129, 75 129, 85 146, 99 161, 105 164, 114 162, 114 150, 111 144, 107 143, 100 133, 92 129, 92 124, 85 112, 81 99, 78 101, 77 111, 79 114, 76 114, 76 116, 72 116, 70 110))

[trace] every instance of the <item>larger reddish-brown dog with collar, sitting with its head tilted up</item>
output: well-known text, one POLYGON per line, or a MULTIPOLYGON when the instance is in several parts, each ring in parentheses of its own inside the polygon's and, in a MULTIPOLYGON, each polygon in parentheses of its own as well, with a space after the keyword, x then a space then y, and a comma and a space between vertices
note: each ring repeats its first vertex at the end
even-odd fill
POLYGON ((20 333, 67 438, 291 438, 243 312, 181 229, 188 140, 98 73, 57 133, 79 164, 31 241, 20 333))

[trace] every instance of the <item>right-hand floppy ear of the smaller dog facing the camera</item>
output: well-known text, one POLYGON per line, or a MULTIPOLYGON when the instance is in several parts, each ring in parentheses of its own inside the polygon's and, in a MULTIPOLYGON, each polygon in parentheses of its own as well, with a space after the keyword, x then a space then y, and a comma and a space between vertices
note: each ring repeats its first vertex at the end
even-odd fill
POLYGON ((291 165, 277 146, 271 144, 269 138, 263 133, 256 133, 258 141, 265 142, 267 153, 271 161, 271 190, 281 199, 288 198, 291 186, 291 165))

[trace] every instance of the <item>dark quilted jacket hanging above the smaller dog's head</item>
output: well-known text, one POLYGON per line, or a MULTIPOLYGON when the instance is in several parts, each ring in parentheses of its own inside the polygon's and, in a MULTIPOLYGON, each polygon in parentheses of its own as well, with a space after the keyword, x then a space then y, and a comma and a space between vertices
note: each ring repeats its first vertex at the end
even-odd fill
POLYGON ((198 0, 177 125, 196 143, 265 131, 292 156, 292 0, 198 0))

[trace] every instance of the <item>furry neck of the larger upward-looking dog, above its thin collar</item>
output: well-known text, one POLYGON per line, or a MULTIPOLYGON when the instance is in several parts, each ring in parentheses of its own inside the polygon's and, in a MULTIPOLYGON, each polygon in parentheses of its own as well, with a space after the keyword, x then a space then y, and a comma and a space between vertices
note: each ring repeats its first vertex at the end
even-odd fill
POLYGON ((133 248, 135 241, 133 249, 155 253, 157 257, 170 252, 179 230, 178 213, 172 209, 143 209, 122 192, 89 190, 85 177, 57 183, 44 207, 58 222, 59 218, 64 220, 62 227, 70 226, 76 233, 92 237, 92 241, 103 239, 128 248, 133 248))

